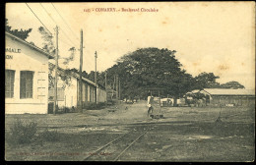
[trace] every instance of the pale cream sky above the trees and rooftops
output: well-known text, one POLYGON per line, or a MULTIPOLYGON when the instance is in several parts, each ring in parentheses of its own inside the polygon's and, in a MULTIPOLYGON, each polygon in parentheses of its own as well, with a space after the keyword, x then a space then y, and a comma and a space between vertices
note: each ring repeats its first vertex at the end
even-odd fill
MULTIPOLYGON (((202 72, 220 76, 219 83, 236 81, 255 88, 254 2, 119 2, 119 3, 28 3, 55 37, 59 30, 59 54, 80 49, 83 29, 83 70, 110 68, 115 61, 138 48, 176 50, 175 57, 192 76, 202 72), (52 5, 53 4, 53 5, 52 5), (44 8, 43 8, 44 7, 44 8), (55 8, 56 9, 55 9, 55 8), (116 12, 96 12, 115 8, 116 12), (122 8, 139 12, 122 12, 122 8), (44 10, 45 9, 45 10, 44 10), (88 9, 91 12, 86 12, 88 9), (143 12, 155 9, 158 12, 143 12), (93 11, 94 10, 94 11, 93 11), (118 11, 120 10, 120 11, 118 11), (60 15, 59 15, 60 14, 60 15)), ((41 23, 26 3, 7 3, 6 18, 13 28, 32 28, 27 41, 42 47, 41 23)), ((63 68, 79 69, 80 52, 63 68)))

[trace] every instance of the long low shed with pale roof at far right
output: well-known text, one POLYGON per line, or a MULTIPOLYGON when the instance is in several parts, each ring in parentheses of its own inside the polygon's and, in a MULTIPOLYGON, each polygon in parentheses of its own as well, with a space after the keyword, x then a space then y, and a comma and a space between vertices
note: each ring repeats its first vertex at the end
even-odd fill
POLYGON ((204 88, 200 92, 209 96, 210 105, 255 105, 255 90, 251 89, 204 88))

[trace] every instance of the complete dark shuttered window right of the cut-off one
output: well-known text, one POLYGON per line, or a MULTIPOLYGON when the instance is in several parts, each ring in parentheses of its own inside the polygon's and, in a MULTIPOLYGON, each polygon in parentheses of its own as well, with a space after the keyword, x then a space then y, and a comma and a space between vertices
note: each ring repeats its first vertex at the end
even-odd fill
POLYGON ((21 98, 32 98, 32 71, 21 71, 21 98))

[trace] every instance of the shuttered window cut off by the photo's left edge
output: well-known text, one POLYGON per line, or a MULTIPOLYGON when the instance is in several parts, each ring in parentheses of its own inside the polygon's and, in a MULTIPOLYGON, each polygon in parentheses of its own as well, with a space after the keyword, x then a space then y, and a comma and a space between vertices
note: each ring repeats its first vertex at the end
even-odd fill
POLYGON ((5 97, 14 97, 14 75, 15 71, 5 70, 5 97))

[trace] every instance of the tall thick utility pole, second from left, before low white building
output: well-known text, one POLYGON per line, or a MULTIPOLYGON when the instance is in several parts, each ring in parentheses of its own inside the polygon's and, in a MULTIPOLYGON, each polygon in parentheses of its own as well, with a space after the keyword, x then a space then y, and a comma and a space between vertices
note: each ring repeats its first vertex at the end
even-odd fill
POLYGON ((82 103, 82 68, 83 68, 83 29, 81 29, 81 40, 80 40, 80 69, 79 69, 79 111, 83 113, 82 103))

